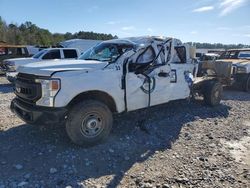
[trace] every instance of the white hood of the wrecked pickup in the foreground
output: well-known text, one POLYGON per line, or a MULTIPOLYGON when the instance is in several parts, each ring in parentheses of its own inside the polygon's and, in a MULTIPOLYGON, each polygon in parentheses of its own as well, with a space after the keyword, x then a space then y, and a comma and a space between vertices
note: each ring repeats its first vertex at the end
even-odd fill
POLYGON ((106 65, 107 62, 93 60, 50 60, 20 66, 17 72, 51 76, 54 72, 98 70, 104 68, 106 65))

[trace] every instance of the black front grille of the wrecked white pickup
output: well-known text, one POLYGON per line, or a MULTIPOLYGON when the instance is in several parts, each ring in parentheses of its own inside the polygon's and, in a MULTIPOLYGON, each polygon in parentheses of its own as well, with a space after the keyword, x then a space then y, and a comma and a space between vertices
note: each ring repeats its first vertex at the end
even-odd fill
POLYGON ((19 73, 15 82, 15 94, 18 98, 35 103, 41 98, 41 84, 35 83, 36 76, 19 73))

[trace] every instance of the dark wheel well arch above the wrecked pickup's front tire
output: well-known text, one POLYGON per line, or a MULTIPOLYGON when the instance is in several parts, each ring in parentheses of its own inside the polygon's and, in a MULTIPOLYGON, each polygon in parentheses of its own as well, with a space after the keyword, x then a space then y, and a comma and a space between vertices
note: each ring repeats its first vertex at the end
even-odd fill
POLYGON ((114 99, 109 94, 103 91, 87 91, 87 92, 80 93, 76 97, 74 97, 74 99, 71 100, 71 102, 68 104, 68 107, 71 108, 72 106, 79 103, 80 101, 88 100, 88 99, 103 102, 109 107, 111 112, 117 112, 114 99))

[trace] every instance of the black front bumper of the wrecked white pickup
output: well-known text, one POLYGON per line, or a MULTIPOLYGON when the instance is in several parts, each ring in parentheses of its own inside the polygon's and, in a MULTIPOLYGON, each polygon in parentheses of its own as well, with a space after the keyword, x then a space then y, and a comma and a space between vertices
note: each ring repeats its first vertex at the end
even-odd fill
POLYGON ((11 101, 10 108, 12 112, 28 124, 63 123, 67 114, 66 108, 33 106, 17 98, 11 101))

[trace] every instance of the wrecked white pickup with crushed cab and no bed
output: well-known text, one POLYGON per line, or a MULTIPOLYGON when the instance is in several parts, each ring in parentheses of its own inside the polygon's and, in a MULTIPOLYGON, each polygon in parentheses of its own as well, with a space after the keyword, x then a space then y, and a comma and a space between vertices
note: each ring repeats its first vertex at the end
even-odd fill
POLYGON ((162 37, 104 41, 78 60, 20 66, 11 109, 30 124, 66 124, 79 145, 103 141, 112 114, 147 108, 197 93, 218 105, 216 77, 196 78, 197 61, 188 45, 162 37))

